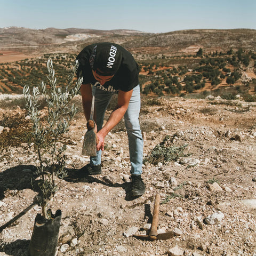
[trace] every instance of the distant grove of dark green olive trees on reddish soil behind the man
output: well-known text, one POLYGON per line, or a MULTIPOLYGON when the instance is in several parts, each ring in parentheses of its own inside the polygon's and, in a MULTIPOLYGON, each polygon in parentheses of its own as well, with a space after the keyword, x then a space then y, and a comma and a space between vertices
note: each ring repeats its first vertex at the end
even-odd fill
MULTIPOLYGON (((47 59, 54 61, 59 84, 67 84, 67 67, 74 63, 75 54, 44 54, 42 57, 25 59, 13 63, 0 64, 0 93, 21 93, 23 87, 37 85, 44 79, 47 59)), ((134 55, 136 59, 136 54, 134 55)), ((200 48, 195 54, 165 56, 142 56, 137 60, 140 68, 141 91, 147 96, 164 95, 183 96, 185 94, 210 90, 219 90, 217 86, 225 82, 227 86, 236 86, 233 93, 255 93, 255 79, 241 80, 242 70, 256 68, 256 53, 246 52, 242 48, 226 52, 205 53, 200 48)))

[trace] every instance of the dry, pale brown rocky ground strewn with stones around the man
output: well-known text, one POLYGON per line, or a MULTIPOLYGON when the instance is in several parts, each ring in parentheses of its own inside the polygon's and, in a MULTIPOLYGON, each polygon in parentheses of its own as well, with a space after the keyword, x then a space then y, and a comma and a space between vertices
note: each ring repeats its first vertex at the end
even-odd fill
MULTIPOLYGON (((187 145, 175 162, 145 161, 145 195, 129 196, 129 153, 124 122, 106 138, 101 175, 61 181, 51 207, 62 210, 58 256, 68 255, 256 255, 256 103, 243 100, 158 99, 142 101, 145 159, 169 135, 172 146, 187 145), (149 227, 155 195, 161 196, 158 233, 165 241, 141 241, 149 227)), ((7 111, 1 109, 1 116, 7 111)), ((12 110, 22 113, 22 109, 12 110)), ((107 113, 110 114, 110 111, 107 113)), ((2 127, 2 129, 5 129, 2 127)), ((80 113, 67 135, 68 169, 81 156, 85 132, 80 113)), ((30 183, 35 155, 26 145, 0 153, 0 226, 33 203, 30 183)), ((28 255, 39 206, 0 233, 0 255, 28 255)))

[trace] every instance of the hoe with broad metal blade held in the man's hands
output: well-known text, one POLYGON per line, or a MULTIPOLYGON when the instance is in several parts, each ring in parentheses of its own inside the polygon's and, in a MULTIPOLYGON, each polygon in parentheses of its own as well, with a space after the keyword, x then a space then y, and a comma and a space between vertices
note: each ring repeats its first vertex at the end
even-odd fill
POLYGON ((93 120, 93 112, 94 112, 94 94, 92 95, 92 107, 91 107, 91 115, 90 119, 87 122, 87 132, 84 135, 84 142, 82 148, 82 155, 85 156, 96 156, 97 150, 96 146, 98 143, 96 125, 93 120))

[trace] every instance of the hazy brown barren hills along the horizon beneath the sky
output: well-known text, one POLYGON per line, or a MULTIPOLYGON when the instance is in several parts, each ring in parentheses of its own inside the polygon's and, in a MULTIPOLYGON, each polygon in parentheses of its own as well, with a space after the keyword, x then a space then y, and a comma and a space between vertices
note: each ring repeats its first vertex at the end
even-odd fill
POLYGON ((256 49, 255 29, 194 29, 152 34, 137 30, 95 30, 79 28, 28 29, 0 28, 0 53, 19 51, 29 55, 43 53, 77 53, 94 42, 115 42, 134 53, 178 54, 227 51, 242 47, 256 49))

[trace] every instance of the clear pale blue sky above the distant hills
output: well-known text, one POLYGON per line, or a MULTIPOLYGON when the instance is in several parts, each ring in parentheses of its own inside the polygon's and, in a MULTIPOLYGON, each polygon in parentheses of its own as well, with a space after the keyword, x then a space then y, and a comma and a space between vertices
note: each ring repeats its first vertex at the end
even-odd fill
POLYGON ((0 0, 0 28, 256 29, 255 0, 0 0))

